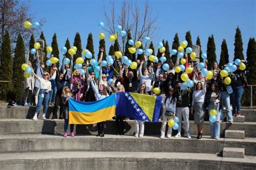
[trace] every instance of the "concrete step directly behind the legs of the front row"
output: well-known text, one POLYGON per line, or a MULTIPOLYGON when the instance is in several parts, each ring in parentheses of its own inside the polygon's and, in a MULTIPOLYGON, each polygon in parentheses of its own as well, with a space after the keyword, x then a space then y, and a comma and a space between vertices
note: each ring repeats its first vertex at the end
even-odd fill
MULTIPOLYGON (((59 119, 46 119, 32 121, 31 119, 0 119, 0 134, 20 134, 20 133, 37 133, 37 134, 57 134, 64 133, 64 120, 59 119)), ((149 123, 145 122, 145 135, 160 134, 161 122, 149 123)), ((183 123, 181 134, 184 133, 185 125, 183 123)), ((221 123, 220 132, 221 137, 224 137, 225 130, 244 130, 245 137, 256 137, 255 133, 256 123, 245 122, 245 123, 221 123)), ((135 122, 124 121, 124 132, 125 134, 134 134, 135 122)), ((78 134, 96 134, 96 124, 90 125, 76 125, 75 132, 78 134)), ((197 125, 193 121, 190 121, 190 132, 192 135, 197 135, 197 125)), ((106 121, 105 125, 106 134, 116 134, 116 122, 114 120, 106 121)), ((173 135, 177 134, 177 130, 173 130, 173 135)), ((209 122, 204 123, 204 134, 210 135, 210 124, 209 122)))

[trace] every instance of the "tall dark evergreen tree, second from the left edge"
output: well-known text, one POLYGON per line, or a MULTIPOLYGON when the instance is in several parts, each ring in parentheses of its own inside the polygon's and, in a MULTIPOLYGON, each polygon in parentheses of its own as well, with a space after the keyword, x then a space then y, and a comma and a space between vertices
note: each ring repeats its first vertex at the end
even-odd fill
POLYGON ((17 103, 22 104, 22 99, 24 95, 24 77, 23 70, 21 69, 21 65, 25 63, 25 45, 21 34, 18 34, 17 43, 15 47, 15 55, 14 55, 14 73, 13 81, 14 81, 14 94, 15 100, 17 103))

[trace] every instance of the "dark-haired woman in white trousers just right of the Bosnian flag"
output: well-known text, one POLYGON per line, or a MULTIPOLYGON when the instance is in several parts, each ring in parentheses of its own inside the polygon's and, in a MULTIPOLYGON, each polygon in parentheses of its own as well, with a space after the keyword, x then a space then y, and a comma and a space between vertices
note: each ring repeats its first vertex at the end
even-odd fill
MULTIPOLYGON (((176 98, 173 97, 174 88, 169 88, 169 94, 166 96, 163 102, 163 122, 161 125, 161 139, 165 138, 166 123, 176 116, 176 98)), ((167 138, 172 136, 172 127, 168 127, 167 138)))

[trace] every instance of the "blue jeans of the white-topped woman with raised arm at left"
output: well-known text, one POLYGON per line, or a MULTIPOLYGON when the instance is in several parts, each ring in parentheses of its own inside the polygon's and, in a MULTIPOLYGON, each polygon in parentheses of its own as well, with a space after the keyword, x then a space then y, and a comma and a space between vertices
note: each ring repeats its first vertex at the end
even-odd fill
POLYGON ((50 94, 49 93, 46 93, 47 89, 40 89, 39 90, 39 94, 38 94, 38 102, 37 102, 37 105, 36 105, 36 112, 35 114, 38 114, 39 113, 39 109, 41 107, 41 105, 43 104, 44 106, 44 109, 43 109, 43 114, 45 115, 46 112, 47 112, 47 108, 48 108, 48 101, 49 101, 49 96, 50 94), (44 97, 42 97, 42 94, 44 95, 44 97))

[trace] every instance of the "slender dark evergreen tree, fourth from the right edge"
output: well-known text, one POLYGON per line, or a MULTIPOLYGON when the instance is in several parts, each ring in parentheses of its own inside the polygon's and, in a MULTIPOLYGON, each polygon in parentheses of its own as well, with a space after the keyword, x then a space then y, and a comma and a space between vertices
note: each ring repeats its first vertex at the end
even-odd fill
POLYGON ((215 47, 215 42, 214 42, 214 37, 213 35, 208 37, 208 42, 207 42, 207 67, 208 70, 212 69, 213 62, 216 61, 216 47, 215 47))

